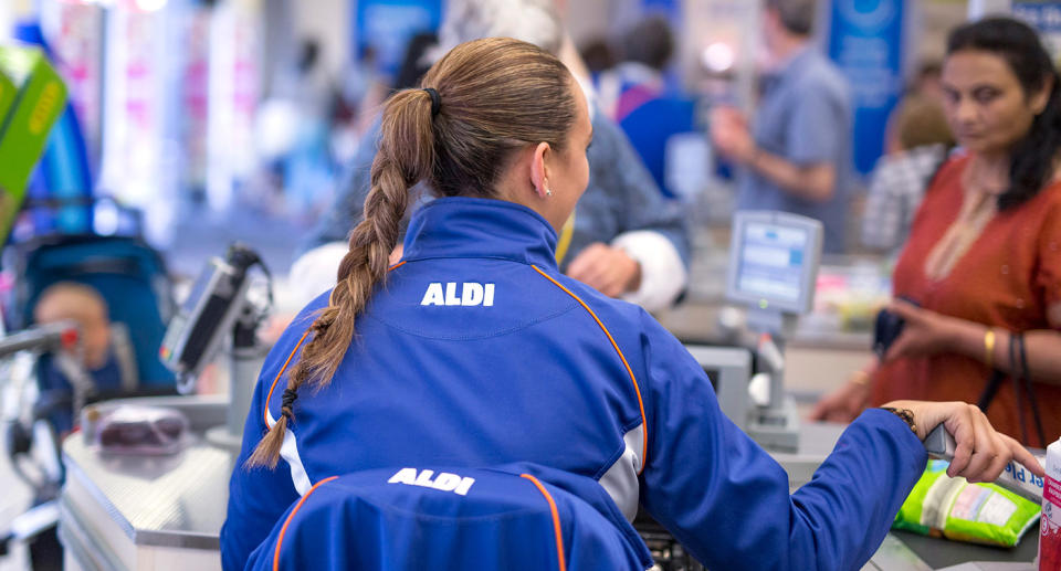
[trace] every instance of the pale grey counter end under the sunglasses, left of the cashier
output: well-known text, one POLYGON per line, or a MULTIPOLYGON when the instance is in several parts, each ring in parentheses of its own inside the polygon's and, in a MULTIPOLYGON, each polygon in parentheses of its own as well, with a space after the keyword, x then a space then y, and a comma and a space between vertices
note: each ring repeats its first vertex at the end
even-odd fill
MULTIPOLYGON (((223 424, 224 396, 129 399, 189 421, 191 442, 172 456, 104 456, 82 433, 63 443, 66 483, 59 537, 70 571, 221 569, 218 535, 235 455, 206 433, 223 424), (147 402, 145 402, 147 401, 147 402)), ((111 401, 107 405, 119 405, 111 401)))

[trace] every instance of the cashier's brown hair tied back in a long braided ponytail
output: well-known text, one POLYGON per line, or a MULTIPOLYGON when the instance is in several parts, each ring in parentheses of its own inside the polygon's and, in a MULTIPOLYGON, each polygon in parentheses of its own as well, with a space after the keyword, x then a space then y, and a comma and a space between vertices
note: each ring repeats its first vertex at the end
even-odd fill
POLYGON ((328 305, 309 326, 309 341, 287 376, 282 414, 248 467, 276 466, 298 389, 307 381, 324 388, 335 376, 357 317, 386 283, 409 189, 427 180, 440 195, 495 198, 494 183, 515 150, 545 141, 563 151, 575 123, 576 87, 564 64, 507 38, 458 45, 428 71, 422 86, 387 101, 365 218, 350 233, 328 305))

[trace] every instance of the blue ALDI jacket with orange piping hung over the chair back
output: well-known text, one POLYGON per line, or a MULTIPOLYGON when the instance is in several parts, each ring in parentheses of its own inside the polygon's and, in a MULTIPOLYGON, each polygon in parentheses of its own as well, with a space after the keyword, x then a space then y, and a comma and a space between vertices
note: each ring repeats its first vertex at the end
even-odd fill
POLYGON ((315 484, 276 521, 248 567, 614 571, 651 565, 633 527, 619 514, 605 517, 609 504, 614 511, 592 479, 540 466, 358 472, 315 484), (596 499, 597 506, 581 497, 596 499))

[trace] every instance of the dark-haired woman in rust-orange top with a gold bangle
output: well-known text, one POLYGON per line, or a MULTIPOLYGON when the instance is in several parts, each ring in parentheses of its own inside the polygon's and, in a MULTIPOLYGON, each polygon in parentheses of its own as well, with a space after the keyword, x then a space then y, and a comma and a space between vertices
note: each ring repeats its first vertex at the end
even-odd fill
POLYGON ((900 398, 962 400, 1043 447, 1061 436, 1058 74, 1034 31, 992 18, 952 32, 942 82, 967 154, 932 182, 895 267, 895 297, 916 305, 892 304, 902 335, 812 416, 845 421, 900 398))

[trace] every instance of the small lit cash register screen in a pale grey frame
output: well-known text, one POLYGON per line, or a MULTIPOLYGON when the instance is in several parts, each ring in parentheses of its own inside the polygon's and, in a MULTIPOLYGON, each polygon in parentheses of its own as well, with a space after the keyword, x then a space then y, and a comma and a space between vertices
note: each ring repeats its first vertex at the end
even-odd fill
POLYGON ((731 247, 731 298, 761 309, 810 309, 821 252, 821 224, 775 212, 739 212, 731 247))

